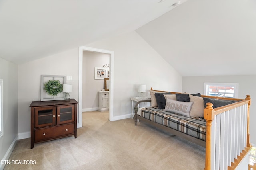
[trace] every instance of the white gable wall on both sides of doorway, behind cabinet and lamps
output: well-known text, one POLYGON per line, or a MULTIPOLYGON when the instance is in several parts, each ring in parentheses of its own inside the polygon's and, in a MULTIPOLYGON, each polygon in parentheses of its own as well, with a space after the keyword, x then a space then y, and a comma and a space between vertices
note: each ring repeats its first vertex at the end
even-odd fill
MULTIPOLYGON (((182 77, 136 32, 86 46, 114 51, 114 116, 130 114, 138 84, 181 91, 182 77)), ((30 135, 29 105, 40 100, 40 75, 72 75, 70 96, 78 100, 78 53, 76 48, 18 66, 18 133, 30 135)))

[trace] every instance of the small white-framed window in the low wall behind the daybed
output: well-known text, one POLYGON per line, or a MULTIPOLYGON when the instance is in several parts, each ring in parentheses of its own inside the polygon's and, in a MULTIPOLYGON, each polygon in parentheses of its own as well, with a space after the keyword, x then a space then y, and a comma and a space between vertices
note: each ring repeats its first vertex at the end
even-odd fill
POLYGON ((225 98, 238 98, 238 83, 204 83, 204 94, 225 98))

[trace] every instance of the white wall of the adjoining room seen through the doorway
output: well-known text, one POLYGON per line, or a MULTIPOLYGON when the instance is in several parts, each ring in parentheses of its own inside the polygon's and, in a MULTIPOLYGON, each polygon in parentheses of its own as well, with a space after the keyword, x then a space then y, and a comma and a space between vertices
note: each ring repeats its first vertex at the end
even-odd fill
POLYGON ((83 105, 85 111, 98 110, 98 92, 104 88, 104 80, 94 79, 94 67, 109 64, 109 54, 83 52, 83 105))

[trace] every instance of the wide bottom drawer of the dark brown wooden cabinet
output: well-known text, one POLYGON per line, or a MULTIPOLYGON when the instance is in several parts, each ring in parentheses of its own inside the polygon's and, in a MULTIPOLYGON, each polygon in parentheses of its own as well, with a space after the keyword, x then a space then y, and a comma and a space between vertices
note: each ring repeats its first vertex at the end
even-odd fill
POLYGON ((35 142, 74 134, 74 123, 48 128, 35 129, 35 142))

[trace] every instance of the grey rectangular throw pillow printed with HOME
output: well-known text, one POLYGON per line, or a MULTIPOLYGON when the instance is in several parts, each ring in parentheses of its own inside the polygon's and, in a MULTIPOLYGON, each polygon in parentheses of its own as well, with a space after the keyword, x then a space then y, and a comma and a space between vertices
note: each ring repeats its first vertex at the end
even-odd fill
POLYGON ((172 113, 177 113, 190 117, 190 109, 193 102, 180 102, 177 100, 166 99, 166 105, 164 111, 170 111, 172 113))

